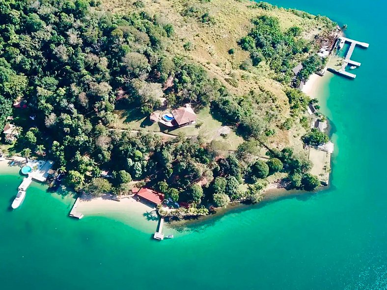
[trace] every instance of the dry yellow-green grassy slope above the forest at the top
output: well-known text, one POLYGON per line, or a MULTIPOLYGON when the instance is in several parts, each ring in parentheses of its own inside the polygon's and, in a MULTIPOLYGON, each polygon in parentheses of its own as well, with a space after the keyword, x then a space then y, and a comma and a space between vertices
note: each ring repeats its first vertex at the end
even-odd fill
POLYGON ((210 76, 221 80, 231 93, 245 95, 250 90, 274 93, 274 106, 279 114, 274 126, 276 134, 267 142, 274 147, 292 146, 301 150, 300 137, 305 131, 299 122, 296 120, 291 130, 280 128, 292 117, 284 85, 275 80, 275 73, 265 61, 250 65, 249 53, 241 49, 238 41, 252 29, 251 19, 268 15, 279 20, 283 31, 300 27, 300 38, 318 47, 316 37, 326 37, 334 26, 329 19, 270 4, 257 5, 249 0, 105 0, 103 6, 119 14, 145 11, 160 24, 172 24, 174 34, 166 45, 166 52, 189 57, 210 76), (244 63, 247 65, 242 69, 244 63))

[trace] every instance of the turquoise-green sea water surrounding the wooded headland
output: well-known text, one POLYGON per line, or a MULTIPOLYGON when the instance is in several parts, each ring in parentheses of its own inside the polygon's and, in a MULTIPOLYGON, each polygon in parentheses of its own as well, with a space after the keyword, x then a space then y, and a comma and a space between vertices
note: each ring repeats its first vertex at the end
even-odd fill
MULTIPOLYGON (((157 242, 112 217, 67 216, 73 199, 0 175, 1 290, 387 289, 386 1, 275 0, 347 24, 355 80, 321 89, 334 124, 332 187, 238 210, 157 242)), ((146 221, 145 221, 146 222, 146 221)))

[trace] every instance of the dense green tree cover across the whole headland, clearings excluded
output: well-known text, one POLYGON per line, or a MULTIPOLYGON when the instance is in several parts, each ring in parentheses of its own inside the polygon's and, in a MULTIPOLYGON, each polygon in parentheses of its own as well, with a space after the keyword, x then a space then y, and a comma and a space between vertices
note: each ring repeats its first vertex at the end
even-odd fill
MULTIPOLYGON (((279 72, 293 61, 289 51, 306 49, 294 41, 296 28, 280 33, 271 18, 254 24, 241 40, 254 63, 270 59, 279 72), (268 34, 284 42, 282 53, 274 50, 275 43, 267 44, 268 34)), ((191 203, 204 213, 201 206, 260 201, 261 181, 279 171, 288 173, 295 188, 319 186, 308 174, 309 161, 291 148, 269 148, 267 162, 249 153, 274 134, 276 96, 264 89, 229 93, 200 65, 166 52, 173 33, 173 24, 157 16, 112 14, 94 0, 0 0, 0 128, 11 115, 23 128, 11 150, 25 157, 45 152, 77 191, 122 194, 132 181, 147 182, 172 201, 191 203), (150 113, 163 96, 170 106, 211 106, 214 118, 235 128, 245 142, 235 154, 223 156, 200 136, 166 141, 151 132, 109 128, 117 104, 150 113), (26 108, 12 108, 15 101, 26 108), (111 179, 101 178, 103 169, 112 172, 111 179)), ((311 102, 298 91, 290 90, 288 97, 293 111, 311 102)), ((310 134, 305 141, 325 141, 310 134)))

